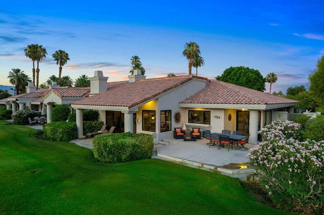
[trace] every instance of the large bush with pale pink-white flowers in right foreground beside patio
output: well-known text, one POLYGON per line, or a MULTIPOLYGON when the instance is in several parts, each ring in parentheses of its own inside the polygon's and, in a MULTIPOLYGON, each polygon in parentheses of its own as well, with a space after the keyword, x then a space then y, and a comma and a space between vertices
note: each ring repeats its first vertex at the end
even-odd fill
POLYGON ((278 204, 314 213, 324 204, 324 140, 304 141, 299 124, 275 121, 261 130, 260 142, 248 154, 259 182, 278 204))

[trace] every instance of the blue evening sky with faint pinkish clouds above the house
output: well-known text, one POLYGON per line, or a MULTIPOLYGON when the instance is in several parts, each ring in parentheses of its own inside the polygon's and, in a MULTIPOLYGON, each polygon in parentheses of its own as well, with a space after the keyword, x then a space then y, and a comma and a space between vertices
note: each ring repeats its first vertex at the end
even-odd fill
MULTIPOLYGON (((69 53, 62 76, 73 80, 102 70, 108 81, 127 80, 130 59, 141 58, 147 78, 188 74, 186 42, 200 46, 205 66, 198 75, 214 78, 231 66, 277 74, 273 91, 306 87, 324 55, 322 1, 2 1, 0 84, 10 85, 12 68, 32 77, 23 49, 47 48, 39 82, 58 76, 55 50, 69 53), (283 3, 282 3, 283 2, 283 3), (90 4, 91 3, 91 4, 90 4)), ((195 68, 193 68, 195 73, 195 68)), ((266 84, 267 92, 269 84, 266 84)))

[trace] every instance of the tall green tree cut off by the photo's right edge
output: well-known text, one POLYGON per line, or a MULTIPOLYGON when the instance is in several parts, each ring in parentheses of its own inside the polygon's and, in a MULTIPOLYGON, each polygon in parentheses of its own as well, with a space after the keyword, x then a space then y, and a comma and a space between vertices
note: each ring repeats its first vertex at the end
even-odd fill
POLYGON ((316 70, 309 76, 309 91, 316 101, 324 105, 324 55, 317 61, 316 70))

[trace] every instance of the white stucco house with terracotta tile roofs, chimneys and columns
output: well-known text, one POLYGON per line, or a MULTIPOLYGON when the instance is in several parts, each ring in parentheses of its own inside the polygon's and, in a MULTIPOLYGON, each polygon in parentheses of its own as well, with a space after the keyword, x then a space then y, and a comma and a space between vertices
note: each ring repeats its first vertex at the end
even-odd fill
MULTIPOLYGON (((97 110, 99 120, 108 127, 115 126, 115 132, 151 134, 154 143, 172 138, 174 128, 184 124, 201 131, 238 130, 250 134, 250 143, 257 143, 258 131, 264 125, 290 119, 298 104, 296 100, 192 75, 146 79, 135 70, 128 77, 129 81, 107 83, 108 77, 95 71, 90 88, 52 87, 42 98, 35 94, 30 103, 46 104, 48 122, 53 105, 70 104, 76 113, 79 138, 84 137, 83 112, 97 110), (181 113, 180 124, 173 119, 176 112, 181 113)), ((12 97, 8 98, 12 103, 25 101, 24 96, 12 97)))

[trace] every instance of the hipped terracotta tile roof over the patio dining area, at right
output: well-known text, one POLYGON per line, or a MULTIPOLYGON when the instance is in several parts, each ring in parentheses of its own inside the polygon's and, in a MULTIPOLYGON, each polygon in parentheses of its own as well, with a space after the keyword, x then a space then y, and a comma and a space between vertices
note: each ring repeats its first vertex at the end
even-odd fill
POLYGON ((298 101, 271 95, 258 90, 218 81, 207 83, 204 89, 184 99, 180 103, 194 104, 280 104, 298 101))

